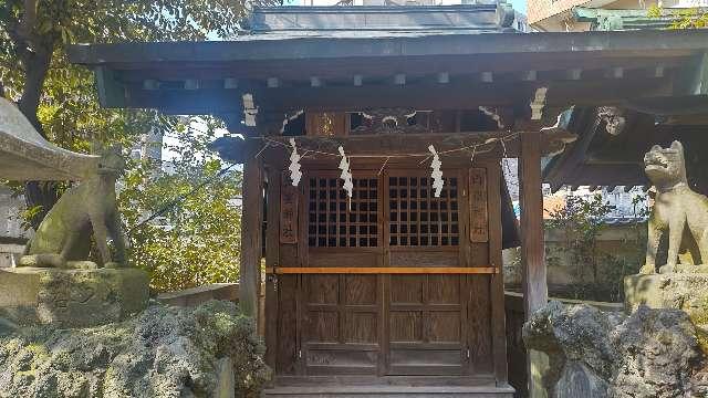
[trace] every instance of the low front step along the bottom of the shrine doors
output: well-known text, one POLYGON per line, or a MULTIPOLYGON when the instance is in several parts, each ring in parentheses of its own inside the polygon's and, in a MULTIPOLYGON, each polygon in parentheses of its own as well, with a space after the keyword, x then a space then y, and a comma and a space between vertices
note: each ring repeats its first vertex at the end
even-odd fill
POLYGON ((266 389, 263 398, 512 398, 511 387, 450 386, 323 386, 323 387, 272 387, 266 389))

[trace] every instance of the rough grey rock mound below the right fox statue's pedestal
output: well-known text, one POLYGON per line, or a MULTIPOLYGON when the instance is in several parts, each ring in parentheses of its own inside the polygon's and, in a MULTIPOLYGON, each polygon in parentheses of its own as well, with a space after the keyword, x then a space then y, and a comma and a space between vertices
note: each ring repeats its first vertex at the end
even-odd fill
POLYGON ((551 397, 708 395, 695 327, 678 310, 639 306, 624 316, 551 302, 524 325, 523 338, 549 355, 551 397))

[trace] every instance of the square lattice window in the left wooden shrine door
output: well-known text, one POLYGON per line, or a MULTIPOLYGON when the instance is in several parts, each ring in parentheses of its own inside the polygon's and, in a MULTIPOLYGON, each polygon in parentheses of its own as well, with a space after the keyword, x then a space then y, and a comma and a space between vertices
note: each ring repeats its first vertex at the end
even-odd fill
POLYGON ((308 244, 311 248, 378 245, 378 180, 354 178, 352 207, 340 178, 310 178, 308 244))

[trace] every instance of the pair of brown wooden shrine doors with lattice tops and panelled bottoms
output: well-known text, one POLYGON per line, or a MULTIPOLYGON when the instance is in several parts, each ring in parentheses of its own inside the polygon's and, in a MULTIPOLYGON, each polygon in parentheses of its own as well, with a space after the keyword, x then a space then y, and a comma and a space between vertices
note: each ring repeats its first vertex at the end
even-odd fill
POLYGON ((435 271, 489 266, 489 243, 470 238, 470 170, 444 172, 436 198, 426 171, 354 170, 351 201, 339 171, 305 174, 300 266, 320 273, 296 276, 300 374, 491 371, 490 275, 435 271), (406 268, 421 271, 391 273, 406 268))

